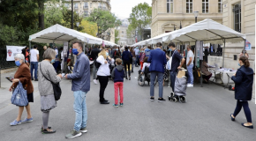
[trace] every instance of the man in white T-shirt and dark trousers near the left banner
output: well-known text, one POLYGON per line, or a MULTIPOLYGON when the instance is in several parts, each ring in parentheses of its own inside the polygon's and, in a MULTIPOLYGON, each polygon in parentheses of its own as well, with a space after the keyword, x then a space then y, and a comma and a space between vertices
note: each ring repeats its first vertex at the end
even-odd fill
POLYGON ((30 50, 30 73, 31 79, 34 81, 38 81, 37 79, 37 69, 38 69, 38 61, 39 61, 39 51, 37 50, 37 45, 34 45, 34 49, 30 50), (33 78, 34 71, 34 78, 33 78))

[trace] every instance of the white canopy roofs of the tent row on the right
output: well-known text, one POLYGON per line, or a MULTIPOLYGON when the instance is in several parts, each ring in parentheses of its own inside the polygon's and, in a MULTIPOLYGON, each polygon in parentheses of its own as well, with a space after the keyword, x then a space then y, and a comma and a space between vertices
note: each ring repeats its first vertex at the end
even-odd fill
POLYGON ((237 43, 245 40, 245 34, 238 33, 230 27, 223 26, 212 19, 204 19, 191 26, 186 26, 170 33, 162 33, 146 41, 139 41, 138 43, 133 44, 132 47, 154 45, 157 42, 169 43, 170 41, 195 45, 196 41, 223 44, 225 42, 237 43))

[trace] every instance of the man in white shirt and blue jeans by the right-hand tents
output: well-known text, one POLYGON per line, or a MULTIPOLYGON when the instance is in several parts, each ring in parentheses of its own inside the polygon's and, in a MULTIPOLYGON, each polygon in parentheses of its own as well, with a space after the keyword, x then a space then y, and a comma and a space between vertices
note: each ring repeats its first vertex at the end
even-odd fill
POLYGON ((191 50, 191 46, 187 46, 187 56, 186 56, 186 69, 188 71, 189 77, 187 78, 187 87, 193 87, 193 61, 194 61, 194 54, 191 50))

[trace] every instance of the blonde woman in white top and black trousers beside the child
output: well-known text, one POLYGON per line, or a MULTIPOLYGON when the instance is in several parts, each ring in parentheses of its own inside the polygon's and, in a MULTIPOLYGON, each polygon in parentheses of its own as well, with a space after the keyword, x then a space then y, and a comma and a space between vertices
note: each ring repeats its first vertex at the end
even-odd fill
POLYGON ((97 71, 97 77, 100 82, 100 102, 101 104, 109 104, 109 100, 105 100, 104 98, 104 92, 109 82, 109 63, 114 63, 114 59, 111 59, 109 53, 102 47, 102 51, 99 53, 96 62, 101 63, 101 66, 97 71))

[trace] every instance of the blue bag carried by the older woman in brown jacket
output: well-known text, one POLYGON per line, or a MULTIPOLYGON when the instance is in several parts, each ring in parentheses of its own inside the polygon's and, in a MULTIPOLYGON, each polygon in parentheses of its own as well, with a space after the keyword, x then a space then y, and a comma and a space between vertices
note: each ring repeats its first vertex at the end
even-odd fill
POLYGON ((19 107, 26 107, 28 104, 26 90, 23 88, 20 81, 11 95, 11 104, 19 107))

